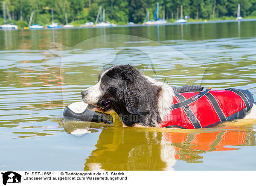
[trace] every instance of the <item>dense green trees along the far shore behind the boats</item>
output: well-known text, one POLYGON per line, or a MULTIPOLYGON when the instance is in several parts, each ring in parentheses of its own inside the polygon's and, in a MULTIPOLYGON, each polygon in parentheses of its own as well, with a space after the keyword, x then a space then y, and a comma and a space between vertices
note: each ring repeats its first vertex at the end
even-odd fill
MULTIPOLYGON (((6 3, 6 22, 20 22, 27 25, 34 12, 32 23, 46 25, 51 23, 51 9, 54 22, 95 22, 99 6, 105 9, 106 20, 118 24, 128 22, 142 23, 146 12, 153 18, 157 0, 4 0, 6 3)), ((256 16, 256 0, 158 0, 160 18, 177 19, 180 5, 183 16, 193 19, 216 17, 236 17, 238 4, 240 15, 256 16), (164 10, 164 11, 163 11, 164 10)), ((0 0, 0 23, 3 22, 3 0, 0 0)))

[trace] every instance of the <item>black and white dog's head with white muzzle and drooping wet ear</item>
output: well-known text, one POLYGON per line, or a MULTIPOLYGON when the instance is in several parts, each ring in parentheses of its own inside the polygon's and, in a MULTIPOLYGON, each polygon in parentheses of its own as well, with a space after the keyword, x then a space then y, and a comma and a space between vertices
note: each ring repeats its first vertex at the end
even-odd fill
POLYGON ((113 109, 125 125, 150 125, 149 117, 159 116, 157 99, 161 90, 136 68, 119 65, 99 73, 98 83, 83 90, 81 95, 89 109, 105 113, 113 109))

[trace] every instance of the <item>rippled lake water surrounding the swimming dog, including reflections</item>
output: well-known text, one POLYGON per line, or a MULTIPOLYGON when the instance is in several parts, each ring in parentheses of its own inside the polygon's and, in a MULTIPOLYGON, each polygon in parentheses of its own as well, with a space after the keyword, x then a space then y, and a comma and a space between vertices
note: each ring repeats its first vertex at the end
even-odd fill
POLYGON ((256 170, 256 121, 201 130, 62 117, 111 64, 256 93, 256 22, 0 30, 0 170, 256 170))

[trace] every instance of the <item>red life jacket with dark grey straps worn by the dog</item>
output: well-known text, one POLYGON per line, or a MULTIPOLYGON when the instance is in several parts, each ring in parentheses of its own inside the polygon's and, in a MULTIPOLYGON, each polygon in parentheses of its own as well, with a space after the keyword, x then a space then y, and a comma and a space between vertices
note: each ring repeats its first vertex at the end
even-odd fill
POLYGON ((248 90, 228 88, 178 93, 173 96, 172 109, 160 127, 208 128, 220 122, 242 119, 253 102, 248 90))

